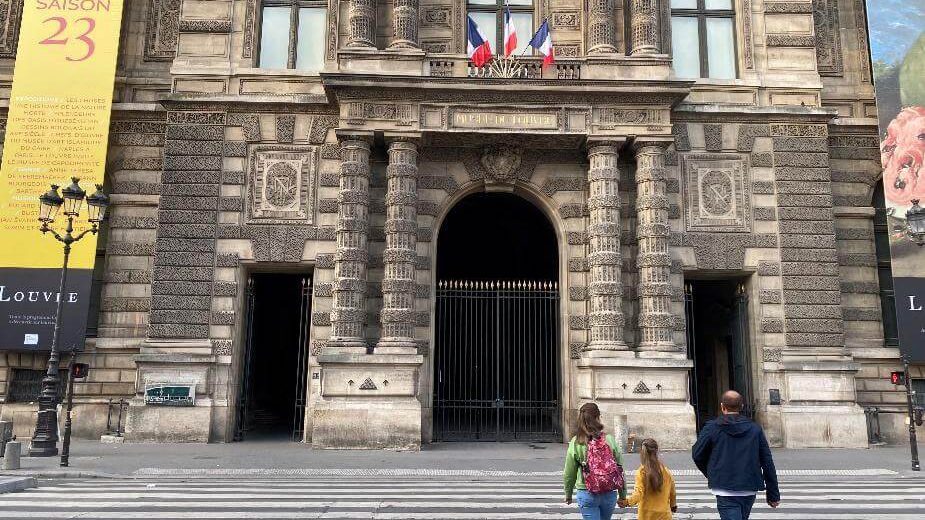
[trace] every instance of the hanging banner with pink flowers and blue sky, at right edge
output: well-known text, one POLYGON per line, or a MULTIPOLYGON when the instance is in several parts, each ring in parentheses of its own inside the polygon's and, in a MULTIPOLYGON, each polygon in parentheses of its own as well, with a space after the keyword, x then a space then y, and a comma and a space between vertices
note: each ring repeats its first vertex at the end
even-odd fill
POLYGON ((867 0, 867 18, 899 344, 925 362, 925 246, 907 218, 925 205, 925 0, 867 0))

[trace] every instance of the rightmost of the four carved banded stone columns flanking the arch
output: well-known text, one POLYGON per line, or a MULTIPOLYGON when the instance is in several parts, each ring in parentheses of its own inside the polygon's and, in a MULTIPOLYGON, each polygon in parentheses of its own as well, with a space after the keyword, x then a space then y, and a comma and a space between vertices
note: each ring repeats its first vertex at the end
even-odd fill
POLYGON ((668 254, 668 196, 665 148, 668 143, 636 145, 636 240, 639 269, 641 351, 674 351, 671 317, 671 256, 668 254))

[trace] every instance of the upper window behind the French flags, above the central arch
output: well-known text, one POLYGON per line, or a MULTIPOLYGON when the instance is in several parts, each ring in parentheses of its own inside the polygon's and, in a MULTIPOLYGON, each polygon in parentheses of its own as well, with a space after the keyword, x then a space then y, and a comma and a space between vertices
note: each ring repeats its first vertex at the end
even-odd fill
MULTIPOLYGON (((491 53, 504 55, 504 0, 468 0, 469 16, 491 43, 491 53)), ((511 22, 517 31, 514 56, 533 54, 527 44, 533 37, 533 0, 509 0, 511 22)))

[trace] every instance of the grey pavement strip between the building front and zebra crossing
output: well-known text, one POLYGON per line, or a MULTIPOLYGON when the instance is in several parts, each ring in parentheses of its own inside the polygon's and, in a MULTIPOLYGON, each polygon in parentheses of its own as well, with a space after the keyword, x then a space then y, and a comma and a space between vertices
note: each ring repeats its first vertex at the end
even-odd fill
MULTIPOLYGON (((920 444, 925 455, 925 445, 920 444)), ((69 468, 59 459, 23 457, 22 469, 6 475, 36 477, 90 476, 280 476, 323 474, 349 470, 358 474, 440 474, 444 476, 555 474, 562 470, 564 444, 437 443, 418 452, 313 450, 304 444, 276 440, 232 444, 102 444, 74 441, 69 468)), ((909 474, 908 447, 862 450, 774 450, 779 470, 789 474, 850 475, 857 470, 875 474, 909 474), (876 470, 876 471, 875 471, 876 470)), ((694 473, 688 452, 667 452, 674 471, 694 473)), ((626 466, 639 464, 635 453, 626 466)), ((921 473, 921 472, 920 472, 921 473)))

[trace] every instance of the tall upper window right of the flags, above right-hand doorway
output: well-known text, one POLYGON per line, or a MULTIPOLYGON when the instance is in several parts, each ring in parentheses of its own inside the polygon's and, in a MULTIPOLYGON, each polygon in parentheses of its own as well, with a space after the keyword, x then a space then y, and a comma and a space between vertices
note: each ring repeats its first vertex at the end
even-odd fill
POLYGON ((733 0, 671 0, 671 52, 680 78, 735 79, 733 0))

